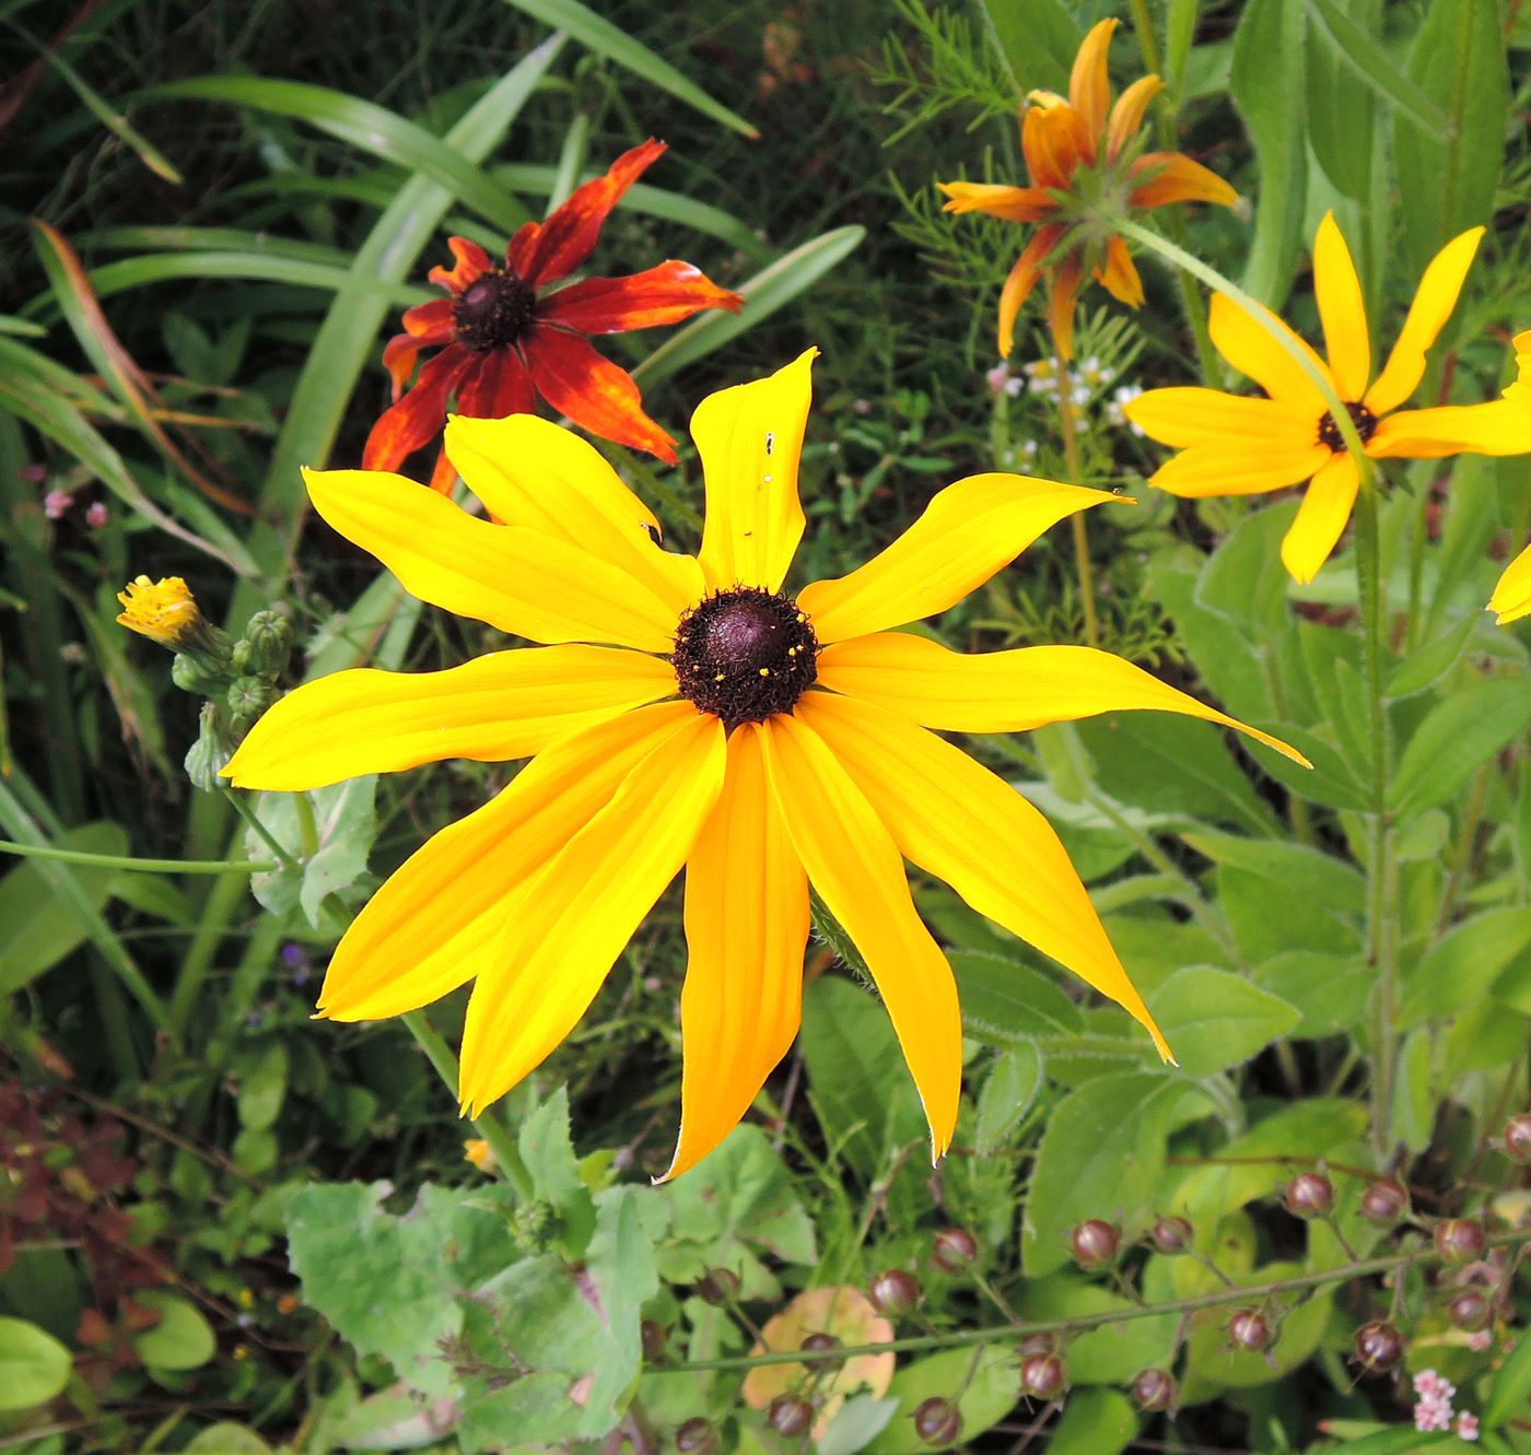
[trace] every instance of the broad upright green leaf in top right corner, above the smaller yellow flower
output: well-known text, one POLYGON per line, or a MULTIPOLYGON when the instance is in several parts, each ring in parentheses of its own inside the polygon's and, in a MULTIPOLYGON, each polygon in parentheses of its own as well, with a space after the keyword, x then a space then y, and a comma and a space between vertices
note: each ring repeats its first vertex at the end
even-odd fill
POLYGON ((1464 228, 1487 223, 1510 118, 1510 70, 1499 6, 1435 0, 1407 72, 1444 122, 1399 113, 1393 132, 1404 240, 1418 272, 1464 228))

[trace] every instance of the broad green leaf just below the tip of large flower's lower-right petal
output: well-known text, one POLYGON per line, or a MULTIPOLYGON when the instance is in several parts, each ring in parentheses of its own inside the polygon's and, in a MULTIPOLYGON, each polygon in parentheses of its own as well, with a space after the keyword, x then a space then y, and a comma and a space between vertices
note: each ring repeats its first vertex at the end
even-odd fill
POLYGON ((1153 1209, 1165 1138, 1185 1082, 1167 1073, 1098 1076, 1053 1109, 1036 1149, 1021 1261, 1041 1278, 1069 1261, 1069 1233, 1085 1218, 1127 1226, 1153 1209))

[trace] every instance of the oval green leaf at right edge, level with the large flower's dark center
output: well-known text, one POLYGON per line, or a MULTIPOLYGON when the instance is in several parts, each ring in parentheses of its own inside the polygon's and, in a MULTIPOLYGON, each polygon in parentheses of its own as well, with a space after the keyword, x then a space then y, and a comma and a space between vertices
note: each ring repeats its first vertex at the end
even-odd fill
POLYGON ((1407 822, 1450 799, 1531 727, 1531 679, 1488 678, 1436 704, 1409 739, 1389 793, 1407 822))

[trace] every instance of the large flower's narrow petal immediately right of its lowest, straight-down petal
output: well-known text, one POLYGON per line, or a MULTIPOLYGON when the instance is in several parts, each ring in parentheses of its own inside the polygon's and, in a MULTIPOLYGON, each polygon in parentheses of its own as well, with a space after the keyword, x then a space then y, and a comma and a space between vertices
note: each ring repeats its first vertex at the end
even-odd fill
POLYGON ((931 1125, 951 1146, 961 1094, 957 982, 909 898, 899 849, 834 754, 799 718, 761 727, 766 771, 808 880, 867 961, 931 1125))

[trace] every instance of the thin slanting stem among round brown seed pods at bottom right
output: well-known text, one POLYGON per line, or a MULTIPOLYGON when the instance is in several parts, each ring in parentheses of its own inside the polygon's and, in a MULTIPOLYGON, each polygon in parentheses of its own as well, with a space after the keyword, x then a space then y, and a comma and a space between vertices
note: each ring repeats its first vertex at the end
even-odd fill
MULTIPOLYGON (((1531 1233, 1494 1233, 1490 1247, 1516 1247, 1523 1250, 1531 1242, 1531 1233)), ((1271 1279, 1266 1284, 1245 1284, 1203 1293, 1191 1299, 1170 1299, 1164 1304, 1142 1304, 1131 1308, 1108 1308, 1101 1313, 1076 1314, 1072 1319, 1040 1319, 991 1325, 987 1328, 954 1330, 949 1334, 928 1334, 911 1339, 890 1339, 886 1343, 836 1345, 833 1349, 778 1349, 769 1354, 736 1354, 727 1359, 697 1359, 680 1366, 692 1372, 710 1369, 755 1369, 761 1365, 814 1363, 821 1359, 856 1359, 860 1354, 902 1354, 919 1349, 966 1348, 974 1343, 1017 1342, 1027 1334, 1076 1334, 1090 1328, 1127 1323, 1131 1319, 1156 1319, 1162 1314, 1197 1313, 1203 1308, 1219 1308, 1225 1304, 1260 1304, 1280 1293, 1301 1293, 1321 1288, 1324 1284, 1343 1284, 1353 1278, 1369 1278, 1373 1273, 1390 1273, 1427 1262, 1439 1255, 1435 1244, 1422 1244, 1409 1253, 1392 1253, 1387 1258, 1366 1258, 1340 1268, 1323 1268, 1317 1273, 1298 1273, 1292 1278, 1271 1279)))

